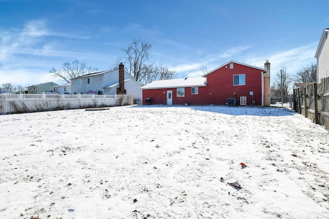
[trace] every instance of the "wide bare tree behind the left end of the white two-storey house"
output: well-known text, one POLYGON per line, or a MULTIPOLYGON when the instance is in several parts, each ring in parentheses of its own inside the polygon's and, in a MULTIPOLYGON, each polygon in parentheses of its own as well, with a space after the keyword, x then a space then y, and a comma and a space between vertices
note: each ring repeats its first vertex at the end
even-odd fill
POLYGON ((61 81, 65 81, 69 84, 71 78, 93 73, 97 70, 98 69, 95 67, 87 67, 85 63, 82 63, 77 59, 72 63, 63 63, 61 69, 50 69, 49 73, 51 73, 53 77, 59 77, 61 81))

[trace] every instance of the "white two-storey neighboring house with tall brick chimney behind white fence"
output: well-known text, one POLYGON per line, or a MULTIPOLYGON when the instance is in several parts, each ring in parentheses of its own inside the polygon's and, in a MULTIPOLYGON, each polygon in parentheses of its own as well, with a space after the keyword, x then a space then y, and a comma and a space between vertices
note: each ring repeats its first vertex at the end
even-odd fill
POLYGON ((119 69, 71 78, 73 94, 127 94, 132 95, 133 98, 140 98, 142 96, 141 86, 132 75, 124 71, 122 64, 119 65, 119 69))

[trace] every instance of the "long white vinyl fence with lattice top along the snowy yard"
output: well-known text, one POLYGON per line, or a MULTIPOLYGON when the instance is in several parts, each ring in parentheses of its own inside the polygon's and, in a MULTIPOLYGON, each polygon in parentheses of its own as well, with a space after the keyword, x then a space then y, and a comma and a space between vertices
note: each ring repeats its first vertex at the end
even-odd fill
POLYGON ((23 113, 132 105, 131 95, 1 94, 0 113, 23 113))

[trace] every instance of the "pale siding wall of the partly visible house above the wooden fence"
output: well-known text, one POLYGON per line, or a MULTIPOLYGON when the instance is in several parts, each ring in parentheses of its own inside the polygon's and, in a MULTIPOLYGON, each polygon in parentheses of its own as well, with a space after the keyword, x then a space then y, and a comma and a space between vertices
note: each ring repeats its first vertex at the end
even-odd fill
POLYGON ((328 32, 326 32, 326 36, 323 40, 323 44, 321 45, 320 55, 318 58, 318 82, 320 82, 321 78, 329 77, 329 37, 328 32))

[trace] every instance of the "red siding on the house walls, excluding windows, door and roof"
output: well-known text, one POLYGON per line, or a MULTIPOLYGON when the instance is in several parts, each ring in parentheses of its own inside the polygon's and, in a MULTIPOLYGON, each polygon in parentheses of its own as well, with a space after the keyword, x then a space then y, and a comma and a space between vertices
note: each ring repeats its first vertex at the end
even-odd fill
POLYGON ((143 104, 145 98, 151 98, 152 104, 167 104, 167 90, 173 91, 173 105, 190 103, 195 105, 225 105, 227 98, 234 98, 240 104, 240 96, 247 97, 247 105, 252 104, 249 95, 253 91, 255 105, 262 105, 262 73, 261 70, 234 63, 233 69, 230 65, 224 66, 208 74, 207 86, 199 87, 198 94, 191 94, 191 88, 185 88, 185 97, 177 97, 176 88, 143 90, 143 104), (234 86, 233 75, 245 74, 245 85, 234 86))

